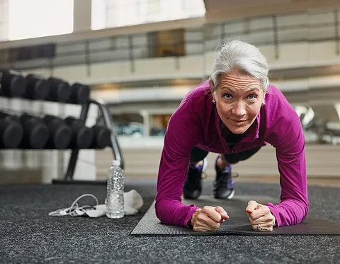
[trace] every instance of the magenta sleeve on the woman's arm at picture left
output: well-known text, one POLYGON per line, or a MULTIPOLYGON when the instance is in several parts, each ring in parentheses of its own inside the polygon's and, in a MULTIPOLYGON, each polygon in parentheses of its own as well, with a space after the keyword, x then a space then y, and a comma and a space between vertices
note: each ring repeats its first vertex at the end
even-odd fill
POLYGON ((157 217, 164 224, 188 227, 198 209, 181 202, 190 152, 198 133, 198 118, 190 110, 180 109, 171 116, 159 164, 155 203, 157 217))

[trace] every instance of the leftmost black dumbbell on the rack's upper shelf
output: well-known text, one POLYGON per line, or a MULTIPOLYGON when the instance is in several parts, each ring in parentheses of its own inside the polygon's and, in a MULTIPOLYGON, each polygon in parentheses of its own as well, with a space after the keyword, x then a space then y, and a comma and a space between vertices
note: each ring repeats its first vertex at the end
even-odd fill
POLYGON ((26 79, 16 70, 0 70, 1 89, 3 97, 22 97, 26 91, 26 79))

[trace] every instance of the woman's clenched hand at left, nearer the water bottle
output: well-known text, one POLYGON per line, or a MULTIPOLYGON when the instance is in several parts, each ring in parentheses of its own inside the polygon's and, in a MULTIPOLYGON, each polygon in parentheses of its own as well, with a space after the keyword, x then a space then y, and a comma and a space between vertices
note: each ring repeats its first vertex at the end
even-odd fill
POLYGON ((197 209, 191 217, 190 224, 193 226, 193 231, 216 231, 225 219, 229 216, 222 207, 203 207, 197 209))

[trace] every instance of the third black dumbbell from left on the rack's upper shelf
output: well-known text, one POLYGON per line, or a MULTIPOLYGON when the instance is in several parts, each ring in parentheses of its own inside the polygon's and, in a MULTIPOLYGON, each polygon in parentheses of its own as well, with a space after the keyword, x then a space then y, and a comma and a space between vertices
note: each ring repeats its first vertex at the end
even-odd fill
POLYGON ((47 101, 57 101, 60 103, 66 103, 71 96, 71 87, 62 79, 50 77, 47 79, 50 85, 50 93, 47 95, 47 101))

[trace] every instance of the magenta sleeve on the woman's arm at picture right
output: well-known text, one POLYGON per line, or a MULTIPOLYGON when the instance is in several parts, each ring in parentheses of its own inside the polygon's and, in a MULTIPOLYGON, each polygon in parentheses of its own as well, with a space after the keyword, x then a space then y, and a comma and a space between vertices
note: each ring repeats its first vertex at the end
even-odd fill
POLYGON ((280 204, 266 204, 276 218, 277 226, 300 224, 307 216, 307 173, 305 136, 297 114, 281 119, 274 126, 271 144, 276 148, 280 172, 280 204))

